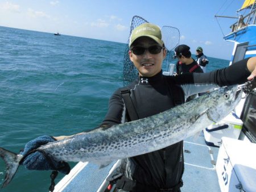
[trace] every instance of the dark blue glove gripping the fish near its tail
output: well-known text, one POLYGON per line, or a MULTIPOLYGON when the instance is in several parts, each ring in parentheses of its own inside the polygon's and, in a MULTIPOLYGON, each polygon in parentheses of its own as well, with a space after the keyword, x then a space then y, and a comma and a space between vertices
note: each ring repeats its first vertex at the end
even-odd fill
MULTIPOLYGON (((31 140, 26 144, 24 151, 21 154, 26 156, 32 150, 52 141, 55 141, 55 139, 51 136, 44 135, 37 137, 36 139, 31 140)), ((71 169, 67 162, 57 162, 51 157, 39 151, 31 153, 26 158, 24 158, 22 165, 24 165, 29 170, 58 170, 64 174, 68 174, 71 169)))

